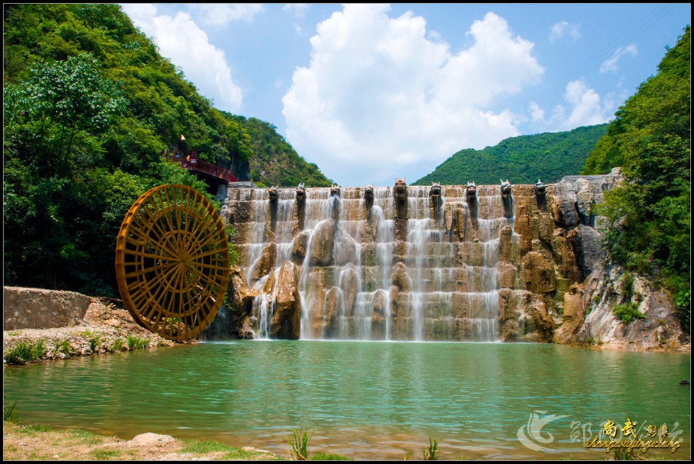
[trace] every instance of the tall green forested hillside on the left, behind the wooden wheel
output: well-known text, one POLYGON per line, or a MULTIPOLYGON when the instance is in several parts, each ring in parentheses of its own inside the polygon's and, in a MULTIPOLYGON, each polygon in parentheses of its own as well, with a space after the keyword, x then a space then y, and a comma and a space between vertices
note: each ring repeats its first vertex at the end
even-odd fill
POLYGON ((197 149, 266 185, 329 183, 307 163, 265 179, 262 165, 285 156, 273 126, 213 108, 118 5, 6 3, 3 26, 6 285, 113 295, 137 197, 166 183, 205 191, 164 150, 197 149))

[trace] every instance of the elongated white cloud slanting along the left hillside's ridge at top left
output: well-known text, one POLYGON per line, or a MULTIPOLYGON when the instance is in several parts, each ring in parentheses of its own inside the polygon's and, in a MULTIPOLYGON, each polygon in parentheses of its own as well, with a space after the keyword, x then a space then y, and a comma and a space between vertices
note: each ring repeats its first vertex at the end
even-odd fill
POLYGON ((232 80, 225 53, 210 44, 208 35, 190 15, 158 16, 157 8, 150 4, 122 7, 135 26, 154 40, 162 56, 180 67, 201 94, 214 99, 215 107, 232 113, 239 111, 242 90, 232 80))

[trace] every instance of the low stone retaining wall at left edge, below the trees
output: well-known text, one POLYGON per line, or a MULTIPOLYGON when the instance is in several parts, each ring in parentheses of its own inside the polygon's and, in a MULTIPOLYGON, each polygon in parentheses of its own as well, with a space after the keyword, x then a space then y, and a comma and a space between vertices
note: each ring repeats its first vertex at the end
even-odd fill
POLYGON ((76 292, 3 287, 3 330, 76 326, 92 298, 76 292))

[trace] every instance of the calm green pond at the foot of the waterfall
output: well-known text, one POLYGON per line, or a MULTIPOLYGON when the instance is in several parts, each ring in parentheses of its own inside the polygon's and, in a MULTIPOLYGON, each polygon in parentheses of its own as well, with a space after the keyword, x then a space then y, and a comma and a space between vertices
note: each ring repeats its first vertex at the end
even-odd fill
POLYGON ((21 423, 283 456, 303 427, 310 451, 355 459, 421 458, 430 437, 444 459, 602 459, 584 444, 611 420, 616 438, 666 425, 681 447, 646 456, 688 459, 690 373, 690 354, 561 345, 203 342, 5 367, 3 395, 21 423))

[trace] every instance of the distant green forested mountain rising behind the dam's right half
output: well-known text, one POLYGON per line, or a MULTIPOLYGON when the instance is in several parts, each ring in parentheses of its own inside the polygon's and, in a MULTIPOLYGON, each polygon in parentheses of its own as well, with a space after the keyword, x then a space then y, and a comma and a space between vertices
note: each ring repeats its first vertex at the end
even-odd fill
POLYGON ((521 135, 502 140, 482 150, 464 149, 441 163, 434 172, 414 185, 496 184, 499 179, 511 183, 554 183, 562 177, 578 174, 589 151, 604 134, 607 124, 579 127, 573 131, 521 135))

